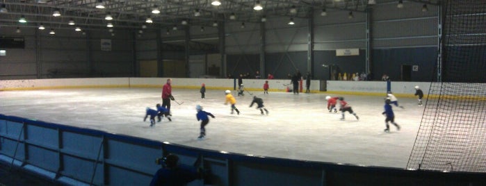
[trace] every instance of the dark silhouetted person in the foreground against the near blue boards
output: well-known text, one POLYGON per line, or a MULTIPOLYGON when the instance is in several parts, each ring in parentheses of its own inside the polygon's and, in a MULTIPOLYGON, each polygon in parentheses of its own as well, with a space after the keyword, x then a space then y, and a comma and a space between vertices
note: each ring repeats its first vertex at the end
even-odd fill
POLYGON ((199 178, 199 174, 195 167, 188 167, 177 164, 179 157, 174 154, 169 154, 164 158, 165 167, 159 169, 150 186, 153 185, 186 185, 191 181, 199 178))

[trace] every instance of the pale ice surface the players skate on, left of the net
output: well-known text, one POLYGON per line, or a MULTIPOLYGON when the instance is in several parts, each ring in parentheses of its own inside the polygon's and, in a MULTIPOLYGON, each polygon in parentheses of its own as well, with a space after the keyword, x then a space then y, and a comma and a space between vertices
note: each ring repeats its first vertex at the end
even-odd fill
POLYGON ((172 121, 164 118, 151 128, 149 119, 143 121, 145 108, 161 103, 161 88, 0 91, 0 113, 202 149, 398 168, 407 166, 423 114, 416 99, 398 98, 405 107, 393 107, 401 129, 391 125, 384 133, 384 95, 342 95, 359 121, 348 112, 341 121, 340 112, 327 111, 327 94, 250 92, 264 99, 269 115, 260 115, 256 105, 249 108, 248 92, 238 97, 232 91, 241 114, 231 115, 224 90, 207 90, 201 99, 199 90, 173 89, 183 103, 172 101, 172 121), (205 140, 197 140, 195 105, 216 116, 206 126, 205 140))

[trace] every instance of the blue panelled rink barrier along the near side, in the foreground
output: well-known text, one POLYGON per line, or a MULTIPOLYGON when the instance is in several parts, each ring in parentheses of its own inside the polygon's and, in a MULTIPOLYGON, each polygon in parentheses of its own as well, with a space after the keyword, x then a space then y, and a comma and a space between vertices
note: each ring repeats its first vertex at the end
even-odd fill
MULTIPOLYGON (((305 145, 305 144, 302 144, 305 145)), ((167 153, 204 167, 190 185, 483 185, 486 174, 359 167, 196 149, 0 115, 0 161, 66 185, 149 185, 167 153)), ((380 157, 376 157, 379 159, 380 157)))

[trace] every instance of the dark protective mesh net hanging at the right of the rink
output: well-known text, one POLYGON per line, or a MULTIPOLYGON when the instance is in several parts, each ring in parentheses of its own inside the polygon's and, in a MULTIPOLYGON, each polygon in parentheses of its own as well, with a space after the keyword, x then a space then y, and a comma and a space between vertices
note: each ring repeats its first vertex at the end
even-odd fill
POLYGON ((486 172, 486 1, 441 6, 442 63, 407 169, 486 172))

